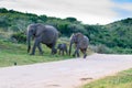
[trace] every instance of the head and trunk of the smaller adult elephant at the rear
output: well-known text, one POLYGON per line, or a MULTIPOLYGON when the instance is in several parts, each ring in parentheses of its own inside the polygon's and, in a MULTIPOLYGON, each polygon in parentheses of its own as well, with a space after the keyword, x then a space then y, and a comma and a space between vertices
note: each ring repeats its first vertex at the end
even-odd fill
POLYGON ((77 43, 79 43, 82 37, 84 37, 84 35, 81 33, 75 33, 70 36, 69 55, 70 55, 70 52, 72 52, 72 45, 74 43, 75 43, 75 45, 77 45, 77 43))

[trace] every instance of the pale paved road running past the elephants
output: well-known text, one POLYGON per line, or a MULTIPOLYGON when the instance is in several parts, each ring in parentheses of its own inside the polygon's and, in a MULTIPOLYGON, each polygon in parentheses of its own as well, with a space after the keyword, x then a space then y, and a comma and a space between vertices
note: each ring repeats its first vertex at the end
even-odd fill
POLYGON ((86 59, 0 68, 0 88, 77 88, 94 79, 132 68, 132 55, 94 54, 86 59))

